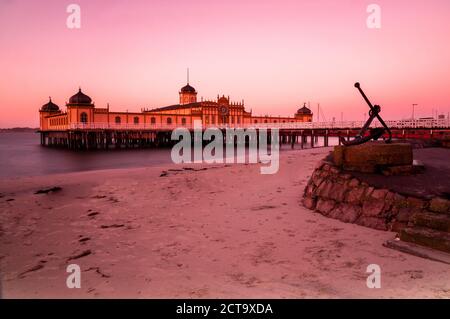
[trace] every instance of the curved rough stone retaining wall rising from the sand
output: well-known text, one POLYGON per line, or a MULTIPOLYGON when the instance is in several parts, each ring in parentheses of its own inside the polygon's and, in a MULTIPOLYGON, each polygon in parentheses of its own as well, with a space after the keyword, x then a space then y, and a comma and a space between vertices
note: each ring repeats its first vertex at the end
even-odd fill
POLYGON ((346 223, 395 232, 414 226, 415 218, 420 216, 450 212, 447 199, 422 199, 375 188, 325 160, 311 175, 303 194, 303 205, 346 223))

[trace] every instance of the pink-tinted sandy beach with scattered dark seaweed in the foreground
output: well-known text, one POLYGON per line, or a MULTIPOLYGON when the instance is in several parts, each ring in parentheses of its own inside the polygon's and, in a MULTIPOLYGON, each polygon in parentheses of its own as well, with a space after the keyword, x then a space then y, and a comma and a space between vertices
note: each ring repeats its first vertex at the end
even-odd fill
POLYGON ((3 298, 449 298, 450 267, 301 205, 330 148, 0 181, 3 298), (185 169, 188 168, 188 169, 185 169), (35 194, 59 186, 60 191, 35 194), (68 289, 66 267, 81 267, 68 289), (366 267, 381 267, 381 288, 366 267))

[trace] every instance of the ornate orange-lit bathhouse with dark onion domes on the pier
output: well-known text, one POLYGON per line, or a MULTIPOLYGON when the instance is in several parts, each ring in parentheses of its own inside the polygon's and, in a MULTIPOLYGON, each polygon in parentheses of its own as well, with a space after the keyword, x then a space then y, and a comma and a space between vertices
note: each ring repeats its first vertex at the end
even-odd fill
POLYGON ((312 112, 303 105, 293 117, 255 116, 245 110, 244 101, 232 102, 230 97, 217 96, 214 101, 197 101, 197 91, 189 83, 179 91, 179 103, 175 105, 145 109, 141 112, 110 111, 109 106, 98 108, 81 89, 73 95, 63 112, 58 105, 49 102, 41 107, 41 131, 65 130, 72 127, 120 128, 127 125, 143 125, 145 128, 190 126, 194 120, 205 126, 244 124, 311 122, 312 112), (81 125, 80 125, 81 124, 81 125))

